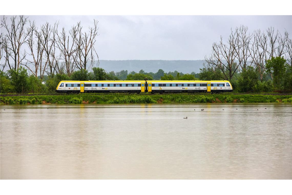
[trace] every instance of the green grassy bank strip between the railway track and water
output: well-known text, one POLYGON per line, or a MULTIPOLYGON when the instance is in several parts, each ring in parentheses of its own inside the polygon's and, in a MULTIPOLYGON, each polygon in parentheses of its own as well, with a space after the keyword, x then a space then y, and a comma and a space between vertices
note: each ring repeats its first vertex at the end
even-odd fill
POLYGON ((233 94, 74 94, 0 96, 1 104, 80 104, 80 103, 267 103, 292 102, 292 95, 233 95, 233 94))

